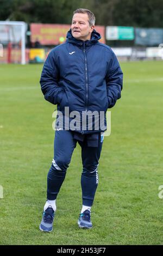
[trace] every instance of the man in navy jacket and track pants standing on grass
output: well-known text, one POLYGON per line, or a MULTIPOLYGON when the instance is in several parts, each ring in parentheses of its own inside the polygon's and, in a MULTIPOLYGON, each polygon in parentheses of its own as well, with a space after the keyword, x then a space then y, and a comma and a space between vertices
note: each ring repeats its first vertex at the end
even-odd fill
MULTIPOLYGON (((91 228, 91 206, 98 185, 98 161, 103 144, 104 127, 92 129, 83 117, 89 112, 106 113, 121 97, 122 71, 109 46, 98 42, 101 35, 95 31, 95 16, 90 10, 77 9, 67 40, 49 53, 41 74, 41 89, 45 99, 54 105, 64 117, 64 124, 55 131, 54 159, 47 175, 47 201, 43 209, 40 230, 53 229, 56 198, 65 179, 68 164, 77 142, 82 148, 83 172, 81 178, 83 206, 78 219, 80 228, 91 228), (79 124, 70 125, 72 115, 79 113, 79 124), (84 114, 83 114, 84 113, 84 114), (82 121, 81 121, 82 119, 82 121)), ((95 127, 96 126, 96 127, 95 127)))

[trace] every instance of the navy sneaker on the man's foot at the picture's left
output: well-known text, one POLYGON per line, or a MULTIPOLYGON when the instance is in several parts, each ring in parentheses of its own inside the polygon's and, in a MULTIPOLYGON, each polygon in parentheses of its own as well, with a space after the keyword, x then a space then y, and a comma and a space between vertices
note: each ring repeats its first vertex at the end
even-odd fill
POLYGON ((45 232, 51 232, 53 230, 55 212, 51 205, 43 212, 42 221, 40 224, 40 230, 45 232))

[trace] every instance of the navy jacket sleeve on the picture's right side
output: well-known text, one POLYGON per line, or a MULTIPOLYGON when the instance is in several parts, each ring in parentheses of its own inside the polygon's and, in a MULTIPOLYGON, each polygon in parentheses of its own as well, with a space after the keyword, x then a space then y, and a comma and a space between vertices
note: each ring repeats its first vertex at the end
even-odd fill
POLYGON ((123 85, 123 72, 118 63, 115 53, 111 50, 111 60, 109 63, 108 72, 106 74, 106 89, 108 96, 108 108, 115 105, 116 101, 121 97, 123 85))

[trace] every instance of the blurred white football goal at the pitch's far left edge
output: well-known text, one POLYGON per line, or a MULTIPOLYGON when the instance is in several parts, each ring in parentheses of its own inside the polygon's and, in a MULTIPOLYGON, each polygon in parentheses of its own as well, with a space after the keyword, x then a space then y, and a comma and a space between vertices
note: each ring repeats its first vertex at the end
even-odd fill
POLYGON ((14 62, 14 51, 15 56, 19 55, 15 57, 15 62, 26 64, 26 29, 27 24, 23 21, 0 21, 0 44, 3 45, 5 55, 3 62, 14 62))

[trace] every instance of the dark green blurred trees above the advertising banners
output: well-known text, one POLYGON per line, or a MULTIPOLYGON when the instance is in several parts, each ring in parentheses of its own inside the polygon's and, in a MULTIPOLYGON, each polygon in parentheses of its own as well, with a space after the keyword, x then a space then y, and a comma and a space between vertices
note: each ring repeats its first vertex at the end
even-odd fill
POLYGON ((0 20, 70 24, 78 8, 90 9, 97 25, 163 28, 162 0, 0 0, 0 20))

